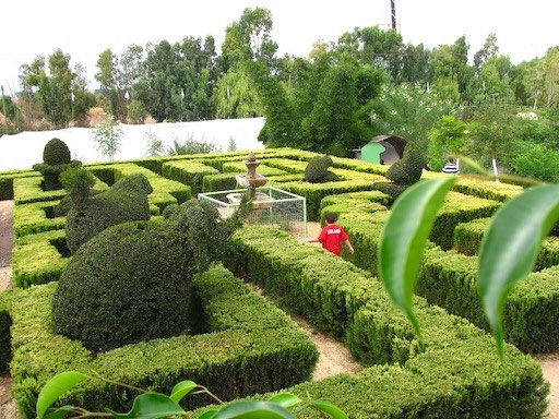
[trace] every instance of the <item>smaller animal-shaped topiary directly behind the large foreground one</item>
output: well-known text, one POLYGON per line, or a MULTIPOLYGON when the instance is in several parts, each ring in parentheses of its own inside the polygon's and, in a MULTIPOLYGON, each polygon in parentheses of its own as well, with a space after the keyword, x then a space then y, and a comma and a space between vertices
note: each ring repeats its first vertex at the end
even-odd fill
POLYGON ((82 192, 72 189, 73 204, 66 217, 66 241, 72 254, 109 226, 151 217, 147 195, 153 189, 144 175, 124 176, 97 194, 90 194, 83 183, 74 188, 82 188, 82 192))

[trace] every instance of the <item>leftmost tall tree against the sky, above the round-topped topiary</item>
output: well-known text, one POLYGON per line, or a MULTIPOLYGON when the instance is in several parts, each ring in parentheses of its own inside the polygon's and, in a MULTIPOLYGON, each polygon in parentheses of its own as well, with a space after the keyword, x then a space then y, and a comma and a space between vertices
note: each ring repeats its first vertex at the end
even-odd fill
POLYGON ((70 55, 56 49, 49 57, 38 56, 20 68, 24 85, 36 95, 41 111, 55 128, 63 128, 72 118, 72 82, 75 73, 70 70, 70 55))

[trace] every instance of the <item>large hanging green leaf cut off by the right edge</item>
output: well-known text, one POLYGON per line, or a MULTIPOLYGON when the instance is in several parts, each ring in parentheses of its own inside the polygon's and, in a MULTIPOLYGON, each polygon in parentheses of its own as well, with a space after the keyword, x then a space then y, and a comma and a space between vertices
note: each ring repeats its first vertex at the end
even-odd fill
POLYGON ((503 356, 502 312, 513 285, 534 268, 542 241, 559 218, 559 184, 527 189, 493 215, 479 249, 478 289, 503 356))

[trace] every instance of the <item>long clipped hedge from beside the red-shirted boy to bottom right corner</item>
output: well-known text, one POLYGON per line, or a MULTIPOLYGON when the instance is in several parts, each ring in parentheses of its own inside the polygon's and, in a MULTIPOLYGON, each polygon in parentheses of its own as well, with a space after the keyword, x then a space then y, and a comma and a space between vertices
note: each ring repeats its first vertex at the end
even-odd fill
POLYGON ((367 364, 400 363, 299 384, 289 392, 328 399, 350 418, 544 415, 549 388, 542 369, 513 346, 507 345, 501 362, 489 334, 415 297, 420 346, 382 285, 343 259, 270 227, 243 228, 234 244, 229 266, 282 307, 345 339, 367 364))

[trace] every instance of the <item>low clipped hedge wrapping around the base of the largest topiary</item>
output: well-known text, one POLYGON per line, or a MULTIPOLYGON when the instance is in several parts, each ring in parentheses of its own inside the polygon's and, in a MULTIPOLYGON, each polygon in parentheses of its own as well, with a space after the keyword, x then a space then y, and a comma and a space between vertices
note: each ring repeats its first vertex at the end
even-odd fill
MULTIPOLYGON (((169 393, 181 380, 194 380, 224 400, 284 388, 308 380, 318 359, 310 338, 281 310, 251 291, 221 266, 194 280, 205 333, 128 345, 104 354, 50 332, 56 283, 1 294, 13 319, 11 373, 22 419, 35 417, 38 392, 53 374, 90 373, 169 393), (29 336, 33 338, 29 339, 29 336)), ((63 404, 103 411, 128 411, 136 394, 92 381, 72 390, 63 404)), ((186 408, 210 403, 188 397, 186 408)))

